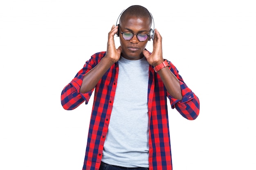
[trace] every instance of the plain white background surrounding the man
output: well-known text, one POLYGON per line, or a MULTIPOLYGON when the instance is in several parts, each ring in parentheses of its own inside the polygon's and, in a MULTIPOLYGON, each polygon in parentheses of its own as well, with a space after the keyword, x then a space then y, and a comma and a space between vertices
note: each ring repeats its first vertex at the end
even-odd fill
POLYGON ((93 101, 67 111, 61 91, 133 4, 200 99, 193 121, 169 109, 173 169, 256 170, 253 0, 1 0, 1 170, 82 169, 93 101))

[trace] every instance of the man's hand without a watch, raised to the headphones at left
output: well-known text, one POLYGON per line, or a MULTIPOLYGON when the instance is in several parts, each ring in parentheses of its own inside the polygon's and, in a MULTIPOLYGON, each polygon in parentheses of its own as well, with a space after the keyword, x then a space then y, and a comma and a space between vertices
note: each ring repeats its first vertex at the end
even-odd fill
POLYGON ((111 31, 108 33, 108 45, 106 51, 106 58, 112 60, 113 63, 117 62, 120 58, 122 48, 121 46, 116 49, 114 35, 117 33, 118 26, 113 25, 111 31))

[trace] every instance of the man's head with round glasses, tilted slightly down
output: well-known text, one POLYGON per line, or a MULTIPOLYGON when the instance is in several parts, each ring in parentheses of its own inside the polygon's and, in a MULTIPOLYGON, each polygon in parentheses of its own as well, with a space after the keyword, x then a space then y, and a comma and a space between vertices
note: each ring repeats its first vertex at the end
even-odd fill
POLYGON ((121 14, 118 35, 123 57, 138 60, 144 56, 142 51, 152 33, 151 25, 152 16, 145 7, 133 5, 121 14))

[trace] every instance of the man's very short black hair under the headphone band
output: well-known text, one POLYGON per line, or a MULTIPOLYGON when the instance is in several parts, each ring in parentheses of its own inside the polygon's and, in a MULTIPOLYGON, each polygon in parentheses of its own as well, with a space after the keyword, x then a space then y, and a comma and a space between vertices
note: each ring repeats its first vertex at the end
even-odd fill
POLYGON ((152 16, 148 9, 142 7, 141 5, 132 5, 128 7, 121 15, 119 23, 123 20, 126 16, 136 16, 139 18, 148 18, 150 20, 150 25, 152 24, 152 16))

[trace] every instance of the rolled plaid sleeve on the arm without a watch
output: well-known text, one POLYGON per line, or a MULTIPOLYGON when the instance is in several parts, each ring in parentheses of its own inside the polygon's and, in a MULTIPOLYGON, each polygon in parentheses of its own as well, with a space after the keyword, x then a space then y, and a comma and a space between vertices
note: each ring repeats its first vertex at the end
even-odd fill
POLYGON ((88 104, 94 89, 87 93, 80 93, 83 77, 94 66, 97 65, 97 63, 99 62, 99 56, 103 55, 105 55, 105 53, 103 52, 92 55, 90 60, 88 60, 84 64, 83 68, 76 74, 72 81, 63 88, 61 92, 61 105, 65 110, 73 110, 83 102, 85 102, 85 104, 88 104))

